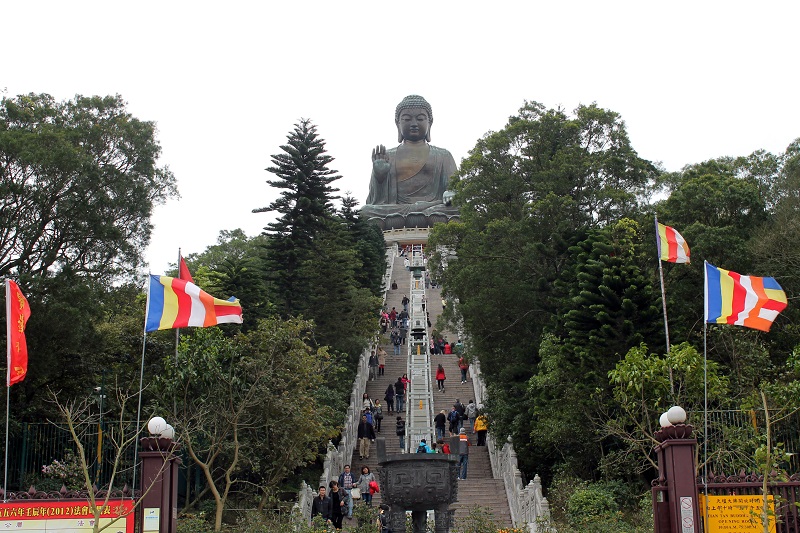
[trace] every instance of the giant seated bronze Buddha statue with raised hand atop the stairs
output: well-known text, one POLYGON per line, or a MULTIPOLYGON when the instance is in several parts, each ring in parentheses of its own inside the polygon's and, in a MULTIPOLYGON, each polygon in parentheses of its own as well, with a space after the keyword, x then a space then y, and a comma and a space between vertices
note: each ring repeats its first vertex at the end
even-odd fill
POLYGON ((397 148, 372 150, 369 196, 361 214, 383 229, 429 227, 458 214, 447 181, 457 170, 453 156, 431 140, 433 112, 421 96, 397 104, 397 148))

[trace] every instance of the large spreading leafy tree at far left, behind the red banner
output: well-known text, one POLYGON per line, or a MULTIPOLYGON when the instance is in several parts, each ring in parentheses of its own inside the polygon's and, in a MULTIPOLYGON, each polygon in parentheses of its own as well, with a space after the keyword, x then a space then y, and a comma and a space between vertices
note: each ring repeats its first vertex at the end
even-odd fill
POLYGON ((176 193, 160 152, 155 124, 118 95, 0 102, 0 276, 18 278, 34 309, 26 336, 36 356, 11 392, 26 406, 16 416, 53 416, 35 401, 41 390, 80 397, 100 369, 126 362, 98 347, 110 340, 107 305, 141 265, 153 207, 176 193))

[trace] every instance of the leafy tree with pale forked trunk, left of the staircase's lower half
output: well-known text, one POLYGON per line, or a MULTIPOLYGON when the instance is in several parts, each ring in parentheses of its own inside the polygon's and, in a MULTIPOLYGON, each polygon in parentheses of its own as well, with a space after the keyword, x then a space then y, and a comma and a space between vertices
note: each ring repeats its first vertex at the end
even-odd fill
POLYGON ((180 363, 164 361, 157 397, 162 409, 175 409, 180 440, 204 473, 217 531, 237 487, 256 487, 263 504, 333 434, 332 414, 315 392, 332 360, 309 347, 310 326, 269 319, 233 339, 200 329, 182 338, 180 363))

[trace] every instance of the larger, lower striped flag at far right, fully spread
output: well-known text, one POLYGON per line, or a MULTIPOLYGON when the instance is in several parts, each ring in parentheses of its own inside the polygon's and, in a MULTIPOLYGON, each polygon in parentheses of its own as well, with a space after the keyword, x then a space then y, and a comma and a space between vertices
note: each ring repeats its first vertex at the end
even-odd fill
POLYGON ((786 293, 775 278, 742 276, 708 261, 705 265, 706 322, 769 331, 786 309, 786 293))

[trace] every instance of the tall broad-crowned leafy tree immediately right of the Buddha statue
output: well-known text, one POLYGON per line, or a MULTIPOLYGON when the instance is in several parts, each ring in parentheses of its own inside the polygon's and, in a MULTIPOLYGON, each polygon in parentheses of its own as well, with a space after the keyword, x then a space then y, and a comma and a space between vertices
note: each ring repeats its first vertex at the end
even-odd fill
POLYGON ((562 306, 554 283, 570 268, 570 247, 635 215, 655 176, 617 113, 593 104, 568 116, 530 102, 479 140, 451 178, 461 220, 435 227, 430 244, 457 255, 441 273, 444 291, 480 354, 493 427, 513 437, 523 469, 540 471, 542 456, 532 453, 534 422, 520 398, 562 306))

